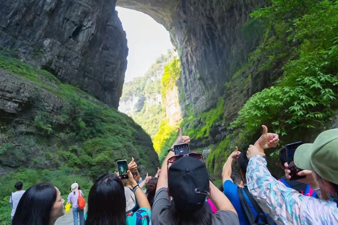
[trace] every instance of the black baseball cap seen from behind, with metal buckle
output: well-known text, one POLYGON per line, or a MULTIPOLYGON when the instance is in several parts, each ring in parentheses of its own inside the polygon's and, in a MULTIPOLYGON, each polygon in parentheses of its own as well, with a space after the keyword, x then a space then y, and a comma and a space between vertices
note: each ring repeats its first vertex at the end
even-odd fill
POLYGON ((201 208, 209 187, 207 167, 200 160, 184 156, 169 167, 168 188, 177 210, 201 208))

